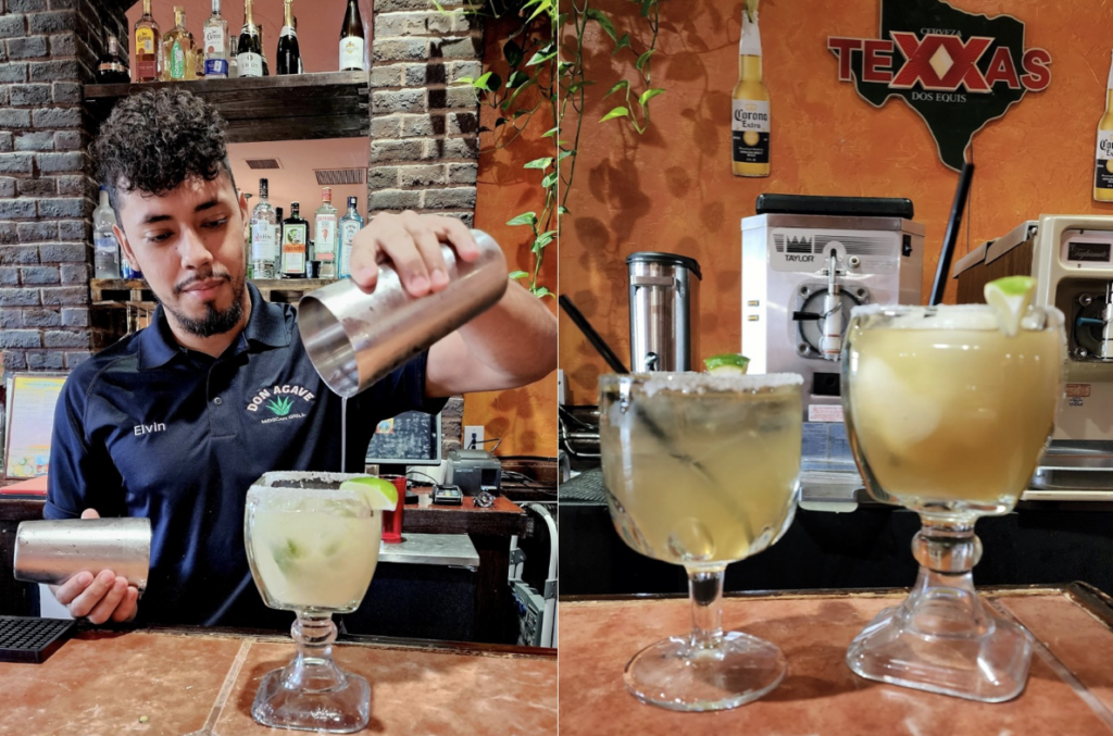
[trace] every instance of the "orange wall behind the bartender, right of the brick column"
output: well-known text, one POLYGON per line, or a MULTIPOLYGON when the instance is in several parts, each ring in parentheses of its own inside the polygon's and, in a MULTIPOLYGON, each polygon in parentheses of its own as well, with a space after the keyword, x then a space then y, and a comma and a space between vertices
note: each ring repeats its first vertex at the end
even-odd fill
MULTIPOLYGON (((484 29, 483 68, 495 63, 498 73, 505 79, 502 43, 513 26, 506 21, 487 22, 484 29)), ((524 95, 523 95, 524 97, 524 95)), ((536 102, 536 97, 529 105, 536 102)), ((493 110, 484 108, 482 125, 494 128, 493 110)), ((552 156, 552 138, 541 134, 552 127, 551 114, 542 107, 529 124, 525 133, 504 148, 496 148, 504 138, 480 136, 479 186, 476 193, 475 227, 490 233, 502 244, 511 271, 532 271, 530 254, 532 235, 525 227, 508 227, 506 220, 526 212, 539 212, 544 206, 541 175, 523 169, 522 164, 552 156)), ((540 283, 556 291, 556 244, 546 248, 540 283)), ((544 303, 555 312, 555 301, 544 303)), ((482 424, 486 439, 502 438, 498 454, 556 455, 556 373, 538 383, 512 391, 470 394, 464 399, 464 424, 482 424)), ((487 449, 494 446, 489 443, 487 449)))

